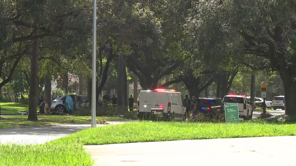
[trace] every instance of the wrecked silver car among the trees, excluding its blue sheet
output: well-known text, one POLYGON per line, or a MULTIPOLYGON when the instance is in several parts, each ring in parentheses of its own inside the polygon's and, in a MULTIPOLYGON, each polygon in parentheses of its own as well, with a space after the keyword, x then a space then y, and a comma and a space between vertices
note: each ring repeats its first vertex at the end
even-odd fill
POLYGON ((85 96, 81 95, 64 95, 59 96, 51 101, 51 111, 66 113, 66 96, 72 97, 74 109, 81 109, 82 107, 88 107, 89 102, 85 96))

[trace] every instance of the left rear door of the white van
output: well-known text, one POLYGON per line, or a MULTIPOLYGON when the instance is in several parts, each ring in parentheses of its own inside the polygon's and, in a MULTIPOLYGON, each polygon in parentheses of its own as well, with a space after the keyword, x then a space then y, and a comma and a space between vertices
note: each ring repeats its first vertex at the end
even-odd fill
POLYGON ((141 91, 139 104, 139 112, 151 112, 151 109, 154 108, 154 91, 141 91))

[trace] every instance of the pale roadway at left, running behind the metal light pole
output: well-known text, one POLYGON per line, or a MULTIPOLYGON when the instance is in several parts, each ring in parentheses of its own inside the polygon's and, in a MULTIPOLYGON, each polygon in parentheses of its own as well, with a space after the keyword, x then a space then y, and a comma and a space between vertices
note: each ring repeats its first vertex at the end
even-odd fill
MULTIPOLYGON (((109 124, 97 124, 97 126, 102 127, 124 122, 113 121, 107 123, 109 124)), ((0 129, 0 143, 42 144, 90 127, 91 124, 61 124, 0 129)))

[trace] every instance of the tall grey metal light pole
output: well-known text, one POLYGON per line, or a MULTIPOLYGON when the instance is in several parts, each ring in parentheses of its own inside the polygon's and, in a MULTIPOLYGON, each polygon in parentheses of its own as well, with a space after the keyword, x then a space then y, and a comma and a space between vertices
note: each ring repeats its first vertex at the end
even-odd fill
POLYGON ((92 20, 92 127, 97 127, 96 122, 96 80, 97 80, 97 0, 93 0, 92 20))

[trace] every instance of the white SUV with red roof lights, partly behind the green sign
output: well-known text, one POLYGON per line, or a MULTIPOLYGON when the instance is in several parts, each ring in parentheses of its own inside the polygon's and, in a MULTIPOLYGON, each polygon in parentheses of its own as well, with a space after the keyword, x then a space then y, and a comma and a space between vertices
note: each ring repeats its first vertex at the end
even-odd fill
POLYGON ((253 108, 247 97, 239 95, 227 95, 224 96, 223 102, 224 104, 238 103, 239 116, 245 120, 252 119, 253 108))

